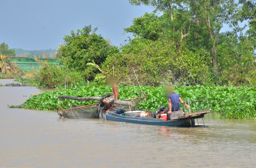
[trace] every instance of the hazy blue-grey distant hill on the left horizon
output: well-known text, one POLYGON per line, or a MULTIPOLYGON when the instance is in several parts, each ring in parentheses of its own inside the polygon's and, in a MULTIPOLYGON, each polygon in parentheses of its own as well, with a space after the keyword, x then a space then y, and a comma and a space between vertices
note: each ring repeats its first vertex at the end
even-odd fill
POLYGON ((50 55, 56 52, 56 50, 52 50, 51 48, 49 50, 23 50, 21 48, 13 48, 13 50, 16 53, 16 57, 31 56, 34 58, 34 56, 37 55, 39 58, 43 58, 43 53, 46 53, 49 59, 52 59, 50 55))

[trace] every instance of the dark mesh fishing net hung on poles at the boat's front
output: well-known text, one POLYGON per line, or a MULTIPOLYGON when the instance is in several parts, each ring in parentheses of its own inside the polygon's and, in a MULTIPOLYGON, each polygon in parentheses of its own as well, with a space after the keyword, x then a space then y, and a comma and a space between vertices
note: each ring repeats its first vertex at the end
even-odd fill
MULTIPOLYGON (((102 103, 102 100, 106 97, 106 95, 103 95, 100 102, 96 104, 91 104, 86 106, 71 105, 70 108, 67 108, 67 109, 63 109, 59 105, 57 108, 58 115, 60 115, 60 117, 63 116, 64 118, 73 118, 73 119, 79 119, 79 118, 104 119, 108 108, 106 104, 102 103)), ((116 112, 119 109, 124 109, 125 111, 136 110, 136 107, 140 104, 140 101, 145 97, 147 97, 147 95, 142 97, 132 98, 132 99, 124 99, 123 101, 129 101, 129 106, 115 104, 115 106, 111 109, 111 111, 116 112)))

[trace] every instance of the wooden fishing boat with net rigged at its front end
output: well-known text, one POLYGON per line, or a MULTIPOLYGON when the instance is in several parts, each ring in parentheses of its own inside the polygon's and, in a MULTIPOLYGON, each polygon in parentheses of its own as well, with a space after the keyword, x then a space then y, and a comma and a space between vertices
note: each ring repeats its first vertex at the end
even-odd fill
MULTIPOLYGON (((110 121, 117 121, 117 122, 126 122, 126 123, 135 123, 135 124, 148 124, 148 125, 158 125, 158 126, 179 126, 179 127, 208 127, 205 125, 198 124, 198 118, 204 118, 205 114, 210 113, 209 104, 207 99, 199 99, 196 101, 190 101, 189 103, 198 102, 198 111, 187 113, 185 104, 183 103, 184 108, 178 111, 173 111, 171 115, 167 114, 168 120, 164 121, 164 119, 160 118, 157 119, 156 112, 147 111, 149 113, 149 117, 139 117, 139 116, 124 116, 121 114, 116 114, 115 112, 119 109, 124 109, 126 111, 146 111, 146 110, 138 110, 136 109, 137 105, 140 103, 142 99, 147 97, 147 95, 137 98, 131 98, 126 100, 119 100, 119 102, 114 101, 115 106, 111 109, 111 111, 106 112, 107 108, 102 105, 100 102, 92 105, 87 106, 76 106, 71 105, 68 109, 63 109, 59 106, 62 113, 58 110, 58 115, 64 118, 99 118, 102 120, 110 120, 110 121), (129 100, 129 101, 127 101, 129 100), (123 101, 123 102, 120 102, 123 101), (200 102, 207 102, 208 109, 200 110, 199 103, 200 102), (197 121, 197 123, 196 123, 197 121)), ((58 96, 60 98, 60 96, 58 96)), ((81 99, 81 98, 79 98, 81 99)), ((74 99, 72 99, 74 100, 74 99)), ((180 102, 175 102, 180 103, 180 102)), ((187 102, 188 103, 188 102, 187 102)), ((204 103, 206 104, 206 103, 204 103)))

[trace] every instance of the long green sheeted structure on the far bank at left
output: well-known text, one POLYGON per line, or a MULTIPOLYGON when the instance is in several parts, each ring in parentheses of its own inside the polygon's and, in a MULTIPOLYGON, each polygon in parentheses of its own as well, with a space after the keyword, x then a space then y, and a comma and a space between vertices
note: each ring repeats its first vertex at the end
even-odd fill
POLYGON ((31 70, 40 70, 40 60, 48 61, 51 64, 58 65, 60 67, 63 64, 60 64, 60 60, 57 59, 39 59, 36 61, 34 58, 28 57, 6 57, 10 60, 10 62, 16 64, 21 70, 31 71, 31 70))

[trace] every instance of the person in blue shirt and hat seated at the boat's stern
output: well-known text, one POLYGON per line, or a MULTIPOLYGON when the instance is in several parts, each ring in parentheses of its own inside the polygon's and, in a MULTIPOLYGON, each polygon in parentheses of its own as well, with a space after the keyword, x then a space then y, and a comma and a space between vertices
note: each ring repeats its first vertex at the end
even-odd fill
MULTIPOLYGON (((167 98, 168 98, 168 104, 169 104, 169 108, 166 108, 164 109, 164 111, 162 111, 160 114, 157 114, 156 115, 156 118, 160 118, 161 114, 164 114, 166 112, 168 112, 168 114, 171 114, 172 111, 177 111, 180 109, 180 103, 176 103, 175 105, 175 102, 181 102, 181 103, 184 103, 184 101, 180 98, 180 95, 175 93, 174 91, 174 88, 173 87, 168 87, 166 89, 168 95, 167 95, 167 98)), ((190 109, 190 106, 188 106, 187 104, 185 104, 185 106, 190 109)))

